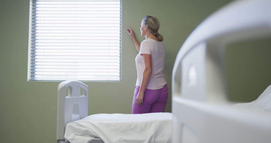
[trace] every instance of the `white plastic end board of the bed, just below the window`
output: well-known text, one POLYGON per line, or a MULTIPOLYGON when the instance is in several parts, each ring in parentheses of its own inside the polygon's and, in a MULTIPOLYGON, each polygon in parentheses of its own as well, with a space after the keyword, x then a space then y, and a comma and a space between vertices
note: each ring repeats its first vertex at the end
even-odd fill
POLYGON ((64 139, 67 123, 88 116, 88 86, 76 80, 67 80, 57 89, 57 128, 56 139, 64 139), (66 89, 69 88, 68 96, 66 89), (80 88, 83 90, 81 95, 80 88))

